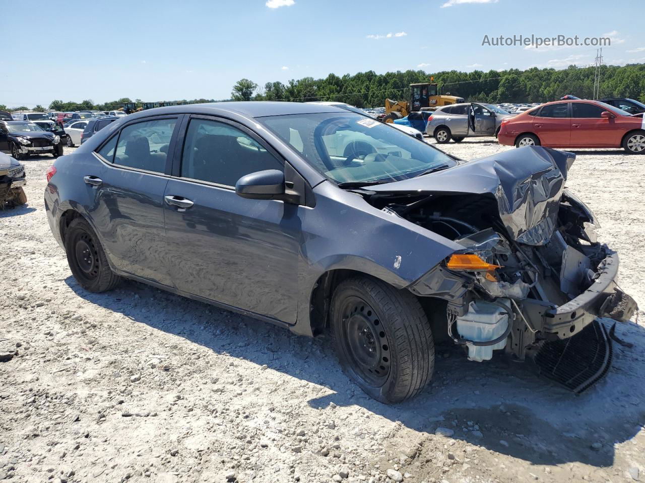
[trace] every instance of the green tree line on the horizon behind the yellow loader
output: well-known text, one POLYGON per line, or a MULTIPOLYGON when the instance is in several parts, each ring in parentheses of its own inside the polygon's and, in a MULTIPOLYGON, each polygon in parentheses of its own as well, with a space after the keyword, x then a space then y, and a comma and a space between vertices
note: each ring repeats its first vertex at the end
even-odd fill
MULTIPOLYGON (((233 86, 231 96, 233 100, 334 100, 359 108, 374 108, 384 106, 388 98, 408 99, 410 84, 428 82, 432 75, 444 94, 451 93, 469 101, 548 102, 566 94, 592 99, 594 71, 594 67, 573 65, 564 70, 534 67, 487 72, 406 70, 377 74, 370 70, 342 77, 330 74, 324 79, 292 79, 287 84, 266 82, 264 87, 241 79, 233 86)), ((602 66, 600 98, 603 97, 629 97, 645 102, 645 64, 602 66)))

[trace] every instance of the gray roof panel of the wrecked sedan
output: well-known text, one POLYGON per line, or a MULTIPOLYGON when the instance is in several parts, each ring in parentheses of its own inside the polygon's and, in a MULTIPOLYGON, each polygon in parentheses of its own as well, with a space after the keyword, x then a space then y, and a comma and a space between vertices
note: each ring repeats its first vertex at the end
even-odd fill
POLYGON ((163 108, 145 109, 130 114, 133 118, 150 115, 181 114, 181 113, 212 113, 219 115, 224 112, 237 113, 244 117, 284 116, 289 114, 312 114, 342 112, 346 110, 335 106, 322 104, 307 104, 305 102, 278 102, 268 100, 249 100, 239 102, 208 102, 204 104, 186 104, 184 106, 165 106, 163 108))

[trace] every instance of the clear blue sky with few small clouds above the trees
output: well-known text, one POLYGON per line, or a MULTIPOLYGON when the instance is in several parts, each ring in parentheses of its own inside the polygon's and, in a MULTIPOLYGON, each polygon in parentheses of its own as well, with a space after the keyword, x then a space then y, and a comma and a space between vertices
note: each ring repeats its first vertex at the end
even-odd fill
POLYGON ((628 20, 642 10, 642 0, 68 0, 30 5, 0 0, 3 24, 14 26, 3 38, 10 55, 0 72, 0 104, 226 99, 243 77, 263 85, 330 72, 564 68, 593 64, 596 52, 588 46, 482 46, 484 35, 609 34, 605 62, 645 61, 642 22, 628 20))

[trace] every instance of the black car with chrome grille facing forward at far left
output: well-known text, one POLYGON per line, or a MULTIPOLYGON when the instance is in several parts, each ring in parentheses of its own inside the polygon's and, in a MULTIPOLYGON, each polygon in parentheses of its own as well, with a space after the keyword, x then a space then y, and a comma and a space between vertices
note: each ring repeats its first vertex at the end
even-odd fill
POLYGON ((17 160, 39 154, 50 154, 57 158, 62 153, 59 145, 59 135, 44 131, 33 122, 0 121, 0 151, 17 160))

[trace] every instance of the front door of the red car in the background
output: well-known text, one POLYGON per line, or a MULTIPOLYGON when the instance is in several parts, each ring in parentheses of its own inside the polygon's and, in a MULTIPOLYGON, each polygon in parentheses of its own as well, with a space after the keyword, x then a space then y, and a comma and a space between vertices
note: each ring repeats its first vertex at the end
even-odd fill
POLYGON ((591 102, 571 102, 571 146, 620 146, 624 132, 615 117, 600 117, 603 112, 609 111, 591 102))

